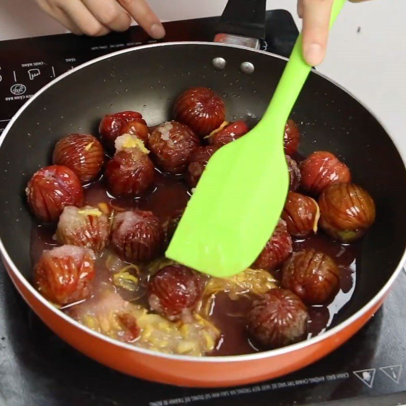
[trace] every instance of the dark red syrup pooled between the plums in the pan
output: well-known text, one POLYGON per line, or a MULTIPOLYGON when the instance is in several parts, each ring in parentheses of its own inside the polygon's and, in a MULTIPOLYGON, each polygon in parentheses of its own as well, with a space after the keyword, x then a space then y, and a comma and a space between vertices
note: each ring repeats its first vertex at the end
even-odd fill
MULTIPOLYGON (((140 198, 114 198, 105 186, 103 179, 93 183, 85 189, 85 204, 96 205, 100 202, 123 209, 141 209, 152 211, 161 222, 174 216, 179 210, 186 207, 189 198, 188 189, 182 177, 167 176, 156 172, 154 189, 140 198)), ((31 261, 35 264, 44 250, 57 246, 53 238, 54 226, 33 225, 31 230, 31 261)), ((298 251, 304 248, 315 248, 330 255, 341 269, 341 290, 339 294, 326 306, 313 306, 309 309, 309 337, 325 331, 333 322, 334 316, 350 300, 356 281, 356 257, 359 245, 341 245, 327 238, 322 233, 312 235, 305 240, 294 241, 293 249, 298 251)), ((125 300, 136 300, 145 303, 146 280, 143 280, 137 291, 127 291, 117 288, 111 280, 111 273, 105 266, 106 255, 97 262, 97 278, 93 298, 88 299, 86 306, 97 298, 99 289, 111 285, 125 300)), ((278 278, 278 272, 275 273, 278 278)), ((211 321, 219 328, 222 335, 216 349, 211 355, 238 355, 249 354, 263 349, 257 348, 246 332, 246 316, 251 306, 249 297, 241 296, 239 300, 231 300, 226 293, 217 294, 211 308, 211 321)), ((78 304, 77 306, 81 306, 78 304)), ((75 306, 64 310, 74 314, 75 306)))

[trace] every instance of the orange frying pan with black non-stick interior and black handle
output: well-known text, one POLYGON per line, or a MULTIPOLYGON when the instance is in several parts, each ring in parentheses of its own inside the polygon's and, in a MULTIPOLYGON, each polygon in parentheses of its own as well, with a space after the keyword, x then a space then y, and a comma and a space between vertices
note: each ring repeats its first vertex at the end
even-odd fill
POLYGON ((104 114, 122 110, 141 111, 150 125, 163 122, 176 95, 191 86, 208 86, 226 95, 228 117, 261 117, 286 59, 238 44, 258 46, 257 39, 264 35, 264 10, 264 0, 230 0, 217 40, 231 39, 233 45, 154 44, 85 63, 31 97, 0 139, 0 251, 12 281, 63 340, 123 373, 183 386, 240 385, 287 374, 325 356, 359 330, 381 306, 404 262, 402 158, 382 125, 355 97, 313 71, 292 113, 301 123, 300 153, 328 150, 341 157, 356 182, 373 195, 378 213, 361 242, 353 297, 332 328, 308 341, 257 354, 166 355, 113 341, 78 324, 31 286, 32 218, 24 188, 30 176, 48 164, 55 142, 71 132, 96 133, 104 114), (230 37, 230 32, 245 38, 230 37))

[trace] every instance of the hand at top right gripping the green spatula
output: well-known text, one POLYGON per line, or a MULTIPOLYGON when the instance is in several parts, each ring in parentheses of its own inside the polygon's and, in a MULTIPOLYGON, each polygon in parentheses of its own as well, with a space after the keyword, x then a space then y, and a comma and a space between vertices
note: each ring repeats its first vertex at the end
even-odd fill
MULTIPOLYGON (((366 0, 350 0, 361 3, 366 0)), ((303 19, 303 56, 309 65, 321 63, 326 54, 333 0, 298 0, 297 14, 303 19)))

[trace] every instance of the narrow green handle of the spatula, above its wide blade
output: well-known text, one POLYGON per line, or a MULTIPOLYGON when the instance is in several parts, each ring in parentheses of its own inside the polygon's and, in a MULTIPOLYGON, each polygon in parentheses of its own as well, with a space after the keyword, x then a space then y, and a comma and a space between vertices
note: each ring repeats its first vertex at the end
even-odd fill
MULTIPOLYGON (((334 1, 331 11, 330 27, 340 14, 345 2, 346 0, 334 1)), ((281 121, 281 124, 284 125, 310 71, 311 66, 303 58, 302 35, 300 34, 272 100, 270 100, 269 106, 262 116, 260 124, 268 125, 278 120, 277 122, 281 121)))

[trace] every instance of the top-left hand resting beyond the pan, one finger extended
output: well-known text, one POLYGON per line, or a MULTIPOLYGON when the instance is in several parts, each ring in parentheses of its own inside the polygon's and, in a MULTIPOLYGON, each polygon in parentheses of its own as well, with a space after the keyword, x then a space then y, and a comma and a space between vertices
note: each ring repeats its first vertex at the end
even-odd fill
POLYGON ((125 31, 131 17, 152 37, 165 30, 146 0, 35 0, 50 16, 75 34, 101 36, 125 31))

